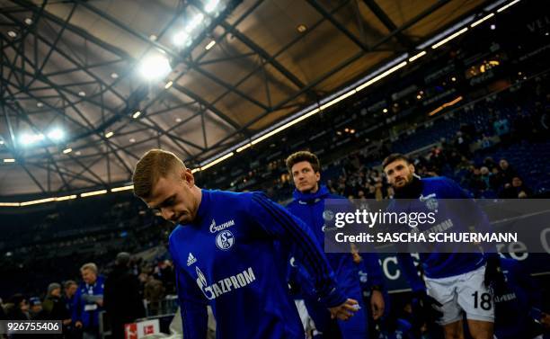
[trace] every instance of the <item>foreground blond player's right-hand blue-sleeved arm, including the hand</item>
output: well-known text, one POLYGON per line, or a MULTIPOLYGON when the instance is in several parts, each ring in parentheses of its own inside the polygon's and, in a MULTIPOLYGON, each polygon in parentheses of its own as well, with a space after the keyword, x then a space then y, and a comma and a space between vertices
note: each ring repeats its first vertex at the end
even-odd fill
POLYGON ((247 211, 255 223, 262 227, 263 232, 290 247, 297 262, 302 263, 312 277, 321 303, 328 308, 345 308, 344 314, 350 314, 354 310, 353 305, 357 301, 347 299, 338 287, 323 250, 302 221, 259 192, 252 194, 247 211))

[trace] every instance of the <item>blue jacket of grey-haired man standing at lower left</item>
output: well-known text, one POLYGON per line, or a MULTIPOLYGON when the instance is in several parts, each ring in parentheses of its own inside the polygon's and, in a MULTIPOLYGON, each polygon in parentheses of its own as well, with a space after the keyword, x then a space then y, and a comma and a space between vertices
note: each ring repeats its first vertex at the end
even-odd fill
POLYGON ((78 285, 73 298, 73 324, 80 321, 84 328, 99 328, 99 314, 103 308, 94 300, 102 299, 104 284, 105 278, 98 275, 93 285, 88 285, 84 281, 78 285))

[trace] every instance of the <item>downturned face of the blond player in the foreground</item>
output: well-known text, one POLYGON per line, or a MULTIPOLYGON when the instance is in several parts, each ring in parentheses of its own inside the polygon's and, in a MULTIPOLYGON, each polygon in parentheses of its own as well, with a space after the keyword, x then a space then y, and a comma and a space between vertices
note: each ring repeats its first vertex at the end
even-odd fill
POLYGON ((158 179, 153 186, 152 198, 146 203, 174 224, 190 223, 199 210, 199 201, 191 190, 193 186, 190 170, 174 172, 173 175, 158 179))

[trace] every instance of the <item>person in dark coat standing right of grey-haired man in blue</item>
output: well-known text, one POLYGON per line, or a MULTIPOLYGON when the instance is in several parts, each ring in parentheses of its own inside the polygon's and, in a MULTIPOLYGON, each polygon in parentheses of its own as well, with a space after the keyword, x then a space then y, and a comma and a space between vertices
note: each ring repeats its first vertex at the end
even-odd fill
POLYGON ((139 281, 129 268, 130 255, 117 254, 115 268, 105 280, 103 307, 111 320, 113 339, 124 339, 124 324, 145 317, 145 308, 139 295, 139 281))

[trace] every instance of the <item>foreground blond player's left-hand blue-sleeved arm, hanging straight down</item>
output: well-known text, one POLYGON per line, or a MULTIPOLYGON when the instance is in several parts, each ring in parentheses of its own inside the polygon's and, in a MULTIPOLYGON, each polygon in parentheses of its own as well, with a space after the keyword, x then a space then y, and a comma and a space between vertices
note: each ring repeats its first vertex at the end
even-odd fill
MULTIPOLYGON (((173 258, 175 245, 170 244, 173 258)), ((207 303, 202 292, 189 274, 184 272, 179 263, 173 261, 176 274, 176 287, 180 310, 182 312, 183 337, 186 339, 206 339, 208 331, 207 303)))

